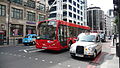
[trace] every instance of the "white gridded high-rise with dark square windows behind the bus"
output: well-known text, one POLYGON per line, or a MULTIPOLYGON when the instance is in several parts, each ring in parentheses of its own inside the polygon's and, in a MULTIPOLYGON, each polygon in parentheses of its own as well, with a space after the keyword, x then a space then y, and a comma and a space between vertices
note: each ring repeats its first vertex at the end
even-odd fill
POLYGON ((48 0, 49 19, 87 25, 87 0, 48 0))

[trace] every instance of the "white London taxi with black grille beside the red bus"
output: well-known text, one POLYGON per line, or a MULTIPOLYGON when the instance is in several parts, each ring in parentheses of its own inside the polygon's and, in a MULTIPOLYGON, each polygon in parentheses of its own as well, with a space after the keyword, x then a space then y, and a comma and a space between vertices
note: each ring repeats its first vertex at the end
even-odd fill
POLYGON ((102 45, 98 33, 81 33, 70 47, 72 57, 95 58, 101 51, 102 45))

